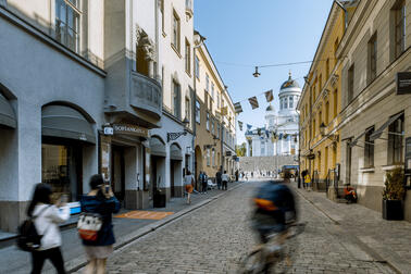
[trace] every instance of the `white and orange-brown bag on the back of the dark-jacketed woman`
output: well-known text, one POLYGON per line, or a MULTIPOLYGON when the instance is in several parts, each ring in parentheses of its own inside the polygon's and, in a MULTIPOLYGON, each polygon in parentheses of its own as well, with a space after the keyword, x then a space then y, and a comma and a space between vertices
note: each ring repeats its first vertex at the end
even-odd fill
POLYGON ((78 236, 84 240, 96 241, 102 226, 102 217, 98 213, 83 212, 77 222, 78 236))

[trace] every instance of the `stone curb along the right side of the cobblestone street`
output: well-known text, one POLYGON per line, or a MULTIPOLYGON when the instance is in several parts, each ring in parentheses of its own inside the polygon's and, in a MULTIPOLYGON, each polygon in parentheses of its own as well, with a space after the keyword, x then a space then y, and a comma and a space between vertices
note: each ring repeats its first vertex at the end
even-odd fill
MULTIPOLYGON (((319 208, 312 200, 310 200, 310 198, 308 198, 301 190, 299 190, 298 188, 296 188, 296 192, 301 196, 306 201, 308 201, 312 207, 314 207, 315 209, 317 209, 325 217, 329 219, 335 225, 340 225, 340 223, 336 220, 334 220, 332 216, 329 216, 329 214, 327 214, 324 210, 322 210, 321 208, 319 208)), ((352 237, 352 235, 351 235, 352 237)), ((374 258, 374 261, 375 262, 379 262, 379 263, 385 263, 387 266, 389 266, 393 271, 395 271, 396 273, 407 273, 407 272, 403 272, 403 267, 401 267, 400 265, 398 265, 399 263, 397 262, 394 262, 391 260, 389 260, 387 257, 381 254, 381 252, 378 252, 377 250, 375 250, 374 248, 370 247, 369 245, 366 245, 366 242, 362 241, 361 239, 359 239, 356 235, 353 236, 356 238, 356 241, 357 241, 357 245, 365 252, 368 253, 369 256, 371 256, 372 258, 374 258)))

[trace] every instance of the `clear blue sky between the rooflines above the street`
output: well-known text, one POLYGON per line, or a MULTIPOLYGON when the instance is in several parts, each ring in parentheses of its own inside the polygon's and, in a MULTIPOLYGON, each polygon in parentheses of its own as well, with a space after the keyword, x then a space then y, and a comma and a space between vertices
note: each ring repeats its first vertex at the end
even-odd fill
MULTIPOLYGON (((234 102, 274 90, 278 110, 278 89, 288 78, 303 85, 311 64, 261 68, 253 66, 310 61, 314 58, 332 0, 195 0, 195 28, 207 37, 207 47, 234 102), (236 65, 233 65, 236 64, 236 65)), ((267 102, 258 97, 259 109, 242 101, 244 124, 263 126, 267 102)), ((246 126, 244 126, 246 128, 246 126)), ((242 129, 245 129, 242 128, 242 129)), ((238 127, 237 127, 238 129, 238 127)), ((237 142, 245 141, 237 130, 237 142)))

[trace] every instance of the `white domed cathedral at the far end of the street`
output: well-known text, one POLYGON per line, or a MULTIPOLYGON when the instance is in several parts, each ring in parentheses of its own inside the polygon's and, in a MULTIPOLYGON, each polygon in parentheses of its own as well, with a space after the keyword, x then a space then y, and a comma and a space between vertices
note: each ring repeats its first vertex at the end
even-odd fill
POLYGON ((273 105, 265 111, 265 126, 246 132, 248 157, 297 155, 298 113, 296 107, 301 88, 289 74, 278 92, 279 111, 273 105))

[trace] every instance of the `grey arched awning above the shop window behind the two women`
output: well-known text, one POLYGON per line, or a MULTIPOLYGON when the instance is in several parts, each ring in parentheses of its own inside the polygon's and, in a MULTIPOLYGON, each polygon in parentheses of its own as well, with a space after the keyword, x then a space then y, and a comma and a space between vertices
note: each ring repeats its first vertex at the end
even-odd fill
POLYGON ((66 105, 47 105, 41 110, 41 135, 96 144, 92 125, 77 110, 66 105))

